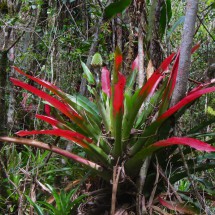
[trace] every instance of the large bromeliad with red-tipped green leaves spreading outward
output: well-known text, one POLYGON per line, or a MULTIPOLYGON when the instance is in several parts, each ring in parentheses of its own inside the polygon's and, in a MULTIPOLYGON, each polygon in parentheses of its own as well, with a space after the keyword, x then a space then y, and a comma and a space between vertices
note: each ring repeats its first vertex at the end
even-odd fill
MULTIPOLYGON (((199 45, 195 46, 192 52, 198 47, 199 45)), ((144 86, 137 90, 134 90, 134 85, 138 72, 138 58, 133 62, 132 73, 126 81, 125 76, 120 72, 122 54, 117 48, 112 75, 106 67, 103 67, 101 84, 96 87, 93 74, 82 62, 85 77, 89 83, 88 90, 94 101, 79 94, 68 95, 52 83, 27 75, 14 67, 19 74, 43 87, 38 89, 11 78, 15 86, 28 90, 46 102, 46 115, 37 114, 36 118, 53 127, 50 130, 19 131, 16 135, 20 137, 35 134, 60 136, 76 143, 87 156, 80 157, 54 145, 33 139, 1 137, 0 140, 58 153, 94 170, 107 182, 112 179, 115 166, 124 169, 122 171, 124 176, 122 174, 120 176, 121 181, 129 178, 129 181, 135 182, 144 161, 148 157, 153 158, 155 154, 159 159, 159 156, 163 156, 162 150, 167 153, 161 162, 165 167, 170 154, 178 156, 175 147, 166 151, 170 146, 185 145, 199 151, 215 152, 215 147, 201 140, 170 135, 172 121, 176 121, 187 107, 203 94, 215 91, 211 82, 201 84, 176 105, 170 107, 176 84, 179 56, 178 52, 167 57, 144 86), (169 65, 174 58, 172 70, 169 72, 169 65), (53 96, 45 90, 51 91, 53 96)), ((176 168, 179 165, 178 160, 180 158, 176 159, 176 168)), ((151 179, 153 175, 155 176, 155 173, 151 171, 149 174, 151 179)), ((177 180, 183 177, 185 175, 182 174, 177 177, 177 180)))

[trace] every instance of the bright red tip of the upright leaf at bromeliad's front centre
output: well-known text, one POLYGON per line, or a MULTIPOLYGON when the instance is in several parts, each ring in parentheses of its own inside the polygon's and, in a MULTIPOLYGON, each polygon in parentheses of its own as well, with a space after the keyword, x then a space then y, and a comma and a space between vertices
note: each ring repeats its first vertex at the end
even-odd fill
POLYGON ((121 73, 119 73, 118 82, 114 85, 113 98, 114 114, 119 113, 123 109, 125 83, 126 83, 125 77, 121 73))

